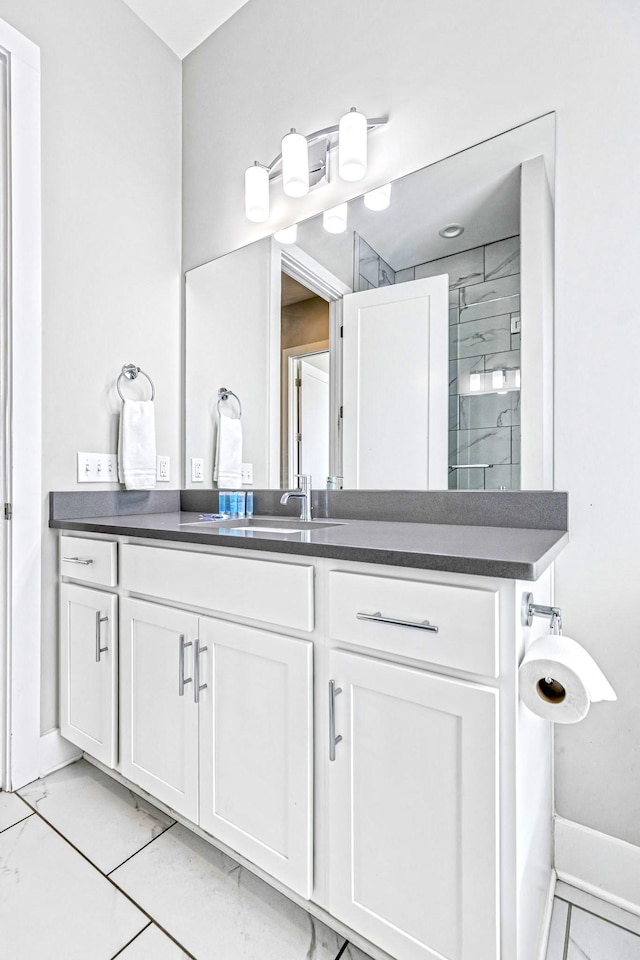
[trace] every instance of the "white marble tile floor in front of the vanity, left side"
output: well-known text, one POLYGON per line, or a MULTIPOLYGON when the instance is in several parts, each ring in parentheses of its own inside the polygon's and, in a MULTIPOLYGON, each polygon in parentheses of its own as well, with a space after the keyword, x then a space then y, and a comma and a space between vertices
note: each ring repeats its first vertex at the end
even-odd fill
POLYGON ((368 960, 84 760, 0 792, 0 955, 368 960))

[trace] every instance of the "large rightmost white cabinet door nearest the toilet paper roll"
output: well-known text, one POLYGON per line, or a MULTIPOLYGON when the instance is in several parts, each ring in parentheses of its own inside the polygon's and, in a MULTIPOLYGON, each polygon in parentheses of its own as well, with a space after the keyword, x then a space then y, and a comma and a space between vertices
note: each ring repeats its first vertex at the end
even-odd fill
POLYGON ((331 913, 398 960, 496 960, 497 692, 341 651, 330 665, 331 913))

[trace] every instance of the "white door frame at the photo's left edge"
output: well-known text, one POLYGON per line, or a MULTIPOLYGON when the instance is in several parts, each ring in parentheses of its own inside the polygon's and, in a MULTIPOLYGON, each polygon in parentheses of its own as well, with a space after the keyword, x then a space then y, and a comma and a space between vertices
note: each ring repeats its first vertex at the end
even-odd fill
POLYGON ((40 50, 0 20, 8 66, 6 350, 2 396, 4 618, 0 653, 0 786, 15 790, 41 771, 40 591, 42 546, 42 322, 40 50))

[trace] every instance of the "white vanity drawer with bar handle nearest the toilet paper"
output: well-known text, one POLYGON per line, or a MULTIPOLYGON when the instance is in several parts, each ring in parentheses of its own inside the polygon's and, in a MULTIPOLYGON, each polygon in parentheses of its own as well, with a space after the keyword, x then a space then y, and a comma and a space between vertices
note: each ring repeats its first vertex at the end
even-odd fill
POLYGON ((332 639, 355 646, 486 677, 498 675, 495 590, 334 570, 329 574, 329 629, 332 639), (360 619, 358 614, 387 622, 360 619), (437 626, 437 633, 425 629, 425 621, 437 626))

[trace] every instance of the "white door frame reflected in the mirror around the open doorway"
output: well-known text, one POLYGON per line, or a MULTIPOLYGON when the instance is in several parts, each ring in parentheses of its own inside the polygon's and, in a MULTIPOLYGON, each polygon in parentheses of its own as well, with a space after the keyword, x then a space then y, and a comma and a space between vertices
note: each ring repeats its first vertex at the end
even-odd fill
POLYGON ((329 304, 329 406, 332 411, 329 459, 332 472, 342 473, 342 298, 353 288, 323 267, 297 244, 282 246, 271 238, 271 303, 269 323, 269 486, 280 487, 282 298, 280 274, 286 273, 329 304))

